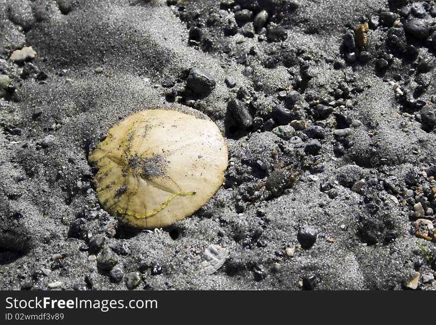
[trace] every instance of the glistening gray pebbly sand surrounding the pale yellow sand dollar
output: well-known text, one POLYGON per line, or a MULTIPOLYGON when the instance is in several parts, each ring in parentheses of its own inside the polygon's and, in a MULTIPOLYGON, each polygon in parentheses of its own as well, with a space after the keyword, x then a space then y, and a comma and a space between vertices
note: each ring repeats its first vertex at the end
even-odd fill
MULTIPOLYGON (((341 49, 347 28, 387 10, 385 1, 236 4, 245 8, 250 2, 286 29, 285 40, 269 42, 265 31, 242 35, 250 26, 226 35, 234 4, 227 10, 216 0, 0 0, 0 58, 6 60, 0 73, 15 87, 0 99, 0 289, 47 289, 61 281, 58 288, 67 290, 125 290, 125 280, 114 283, 97 261, 88 260, 93 252, 85 246, 92 236, 105 236, 104 246, 117 247, 116 268, 124 274, 142 273, 137 289, 403 289, 417 271, 420 289, 436 289, 436 281, 426 278, 435 272, 434 257, 427 259, 417 245, 432 252, 435 243, 417 238, 413 226, 416 202, 436 208, 428 195, 435 182, 422 176, 435 163, 435 130, 423 130, 419 111, 411 117, 415 111, 402 109, 388 83, 416 71, 417 61, 394 57, 385 74, 376 73, 374 56, 386 50, 382 27, 370 30, 368 64, 345 62, 341 49), (194 23, 202 37, 192 42, 194 23), (23 46, 36 51, 33 60, 8 60, 23 46), (244 53, 246 61, 237 63, 244 53), (251 75, 242 73, 245 66, 251 75), (103 71, 96 72, 98 67, 103 71), (183 93, 192 67, 216 81, 203 98, 183 93), (227 77, 236 87, 226 86, 227 77), (164 88, 167 78, 175 86, 164 88), (333 114, 321 120, 308 112, 311 94, 327 104, 340 82, 351 92, 331 104, 334 112, 362 125, 350 126, 354 145, 336 156, 333 114), (300 118, 324 128, 319 154, 304 153, 310 139, 301 131, 303 142, 296 144, 262 127, 229 132, 227 102, 240 87, 249 92, 242 100, 251 101, 251 114, 266 117, 263 122, 272 106, 283 105, 279 91, 297 88, 306 97, 300 118), (193 216, 163 231, 124 229, 100 209, 87 155, 126 116, 150 106, 179 107, 167 96, 171 89, 178 92, 176 102, 208 115, 226 136, 224 184, 193 216), (249 198, 286 166, 304 169, 292 188, 278 197, 249 198), (413 168, 419 180, 409 186, 405 178, 413 168), (360 179, 366 181, 363 191, 351 190, 360 179), (405 201, 406 188, 417 191, 413 202, 405 201), (297 233, 306 225, 317 239, 303 249, 297 233), (211 243, 229 255, 206 275, 203 253, 211 243)), ((423 19, 436 26, 429 13, 423 19)), ((434 65, 435 51, 418 47, 420 57, 434 65)), ((435 71, 425 77, 431 83, 419 98, 435 111, 435 71)), ((417 86, 413 78, 399 84, 409 93, 417 86)))

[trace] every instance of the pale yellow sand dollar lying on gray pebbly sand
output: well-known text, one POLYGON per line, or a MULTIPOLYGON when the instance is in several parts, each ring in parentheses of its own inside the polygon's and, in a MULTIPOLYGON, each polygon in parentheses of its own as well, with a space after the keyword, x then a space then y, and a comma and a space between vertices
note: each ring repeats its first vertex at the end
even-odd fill
POLYGON ((181 220, 221 186, 227 146, 198 114, 148 109, 109 129, 89 155, 102 207, 126 225, 153 229, 181 220))

